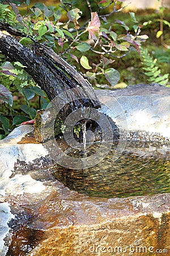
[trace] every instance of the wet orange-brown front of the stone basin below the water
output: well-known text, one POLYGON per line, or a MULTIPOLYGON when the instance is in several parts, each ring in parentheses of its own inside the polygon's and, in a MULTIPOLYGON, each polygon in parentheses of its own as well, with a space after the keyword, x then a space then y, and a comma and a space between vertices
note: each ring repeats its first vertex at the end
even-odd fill
MULTIPOLYGON (((15 241, 7 255, 149 255, 164 250, 169 255, 168 194, 129 197, 126 199, 99 199, 69 191, 59 182, 42 199, 30 204, 29 198, 14 197, 21 212, 32 213, 19 233, 23 216, 18 214, 15 241), (23 204, 24 202, 24 204, 23 204), (36 236, 28 238, 34 230, 36 236), (43 233, 42 233, 43 230, 43 233), (26 235, 25 235, 26 234, 26 235), (25 236, 32 250, 24 251, 25 236), (15 243, 14 243, 15 242, 15 243), (39 243, 37 245, 37 242, 39 243), (14 244, 20 245, 20 251, 14 244), (34 247, 34 249, 33 249, 34 247)), ((32 201, 32 200, 31 200, 32 201)), ((11 207, 12 208, 12 207, 11 207)), ((10 226, 14 227, 12 221, 10 226)))

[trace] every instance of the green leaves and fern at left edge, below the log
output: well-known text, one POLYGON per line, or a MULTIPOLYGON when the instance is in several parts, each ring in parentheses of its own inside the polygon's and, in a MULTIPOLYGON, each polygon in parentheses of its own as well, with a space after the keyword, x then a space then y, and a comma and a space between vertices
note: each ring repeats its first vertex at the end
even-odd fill
MULTIPOLYGON (((36 86, 35 82, 24 71, 25 66, 19 61, 10 63, 3 61, 4 56, 0 59, 0 100, 5 102, 3 106, 0 102, 1 109, 5 109, 6 105, 9 106, 10 112, 6 116, 0 117, 0 139, 5 138, 10 131, 20 123, 33 119, 36 115, 36 109, 30 106, 29 101, 33 97, 41 96, 46 97, 45 93, 36 86), (13 108, 14 102, 12 94, 19 92, 23 96, 25 104, 20 106, 18 112, 13 108), (20 114, 22 111, 23 115, 20 114), (26 116, 24 114, 27 114, 26 116)), ((1 113, 3 114, 3 113, 1 113)))

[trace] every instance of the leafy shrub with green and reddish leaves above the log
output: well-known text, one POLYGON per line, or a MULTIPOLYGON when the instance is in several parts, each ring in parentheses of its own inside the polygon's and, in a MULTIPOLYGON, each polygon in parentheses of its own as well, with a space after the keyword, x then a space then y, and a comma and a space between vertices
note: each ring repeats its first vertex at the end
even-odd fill
MULTIPOLYGON (((79 69, 82 66, 86 70, 92 69, 96 81, 100 80, 101 76, 105 76, 109 85, 114 86, 113 80, 115 83, 118 80, 114 77, 108 79, 103 57, 112 64, 113 59, 120 58, 121 52, 126 52, 122 56, 131 52, 133 48, 139 52, 139 45, 147 39, 147 36, 139 35, 138 21, 134 13, 130 13, 131 27, 135 26, 138 30, 138 32, 135 31, 134 35, 131 34, 130 26, 127 26, 124 21, 117 19, 113 23, 112 20, 107 19, 107 16, 121 11, 120 2, 123 1, 116 0, 107 4, 105 1, 99 3, 95 1, 91 5, 87 2, 87 6, 84 6, 86 8, 86 20, 82 17, 84 10, 79 9, 78 0, 72 1, 70 5, 61 2, 61 6, 57 7, 47 7, 44 3, 36 3, 29 11, 27 10, 26 15, 20 15, 17 6, 12 4, 15 19, 11 20, 11 24, 28 35, 28 37, 20 40, 24 46, 31 44, 29 36, 33 36, 35 40, 52 47, 58 54, 66 57, 70 63, 76 61, 74 63, 76 68, 79 69), (65 19, 67 17, 66 22, 59 20, 60 18, 63 20, 63 13, 65 19), (89 16, 91 16, 90 19, 89 16), (114 28, 116 23, 122 26, 124 33, 117 34, 114 28), (90 42, 88 42, 89 40, 90 42), (89 51, 96 55, 92 61, 84 53, 78 59, 79 52, 87 52, 89 55, 89 51)), ((2 5, 2 12, 4 13, 2 20, 6 19, 9 7, 10 5, 2 5)), ((87 71, 84 69, 82 71, 87 76, 87 71)), ((110 72, 110 76, 115 74, 118 78, 117 73, 110 72)))

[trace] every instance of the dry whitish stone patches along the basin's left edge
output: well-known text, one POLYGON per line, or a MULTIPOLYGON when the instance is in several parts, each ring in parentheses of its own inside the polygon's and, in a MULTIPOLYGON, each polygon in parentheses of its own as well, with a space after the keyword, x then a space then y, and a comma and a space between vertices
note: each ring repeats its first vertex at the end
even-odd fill
POLYGON ((7 138, 0 141, 0 255, 5 255, 6 246, 3 238, 8 232, 7 222, 14 217, 10 213, 10 207, 5 203, 6 193, 21 195, 23 193, 40 193, 45 186, 38 180, 28 175, 12 175, 17 160, 31 163, 34 159, 46 155, 42 144, 18 144, 26 134, 33 130, 30 125, 19 126, 12 131, 7 138), (5 221, 6 220, 6 221, 5 221))

